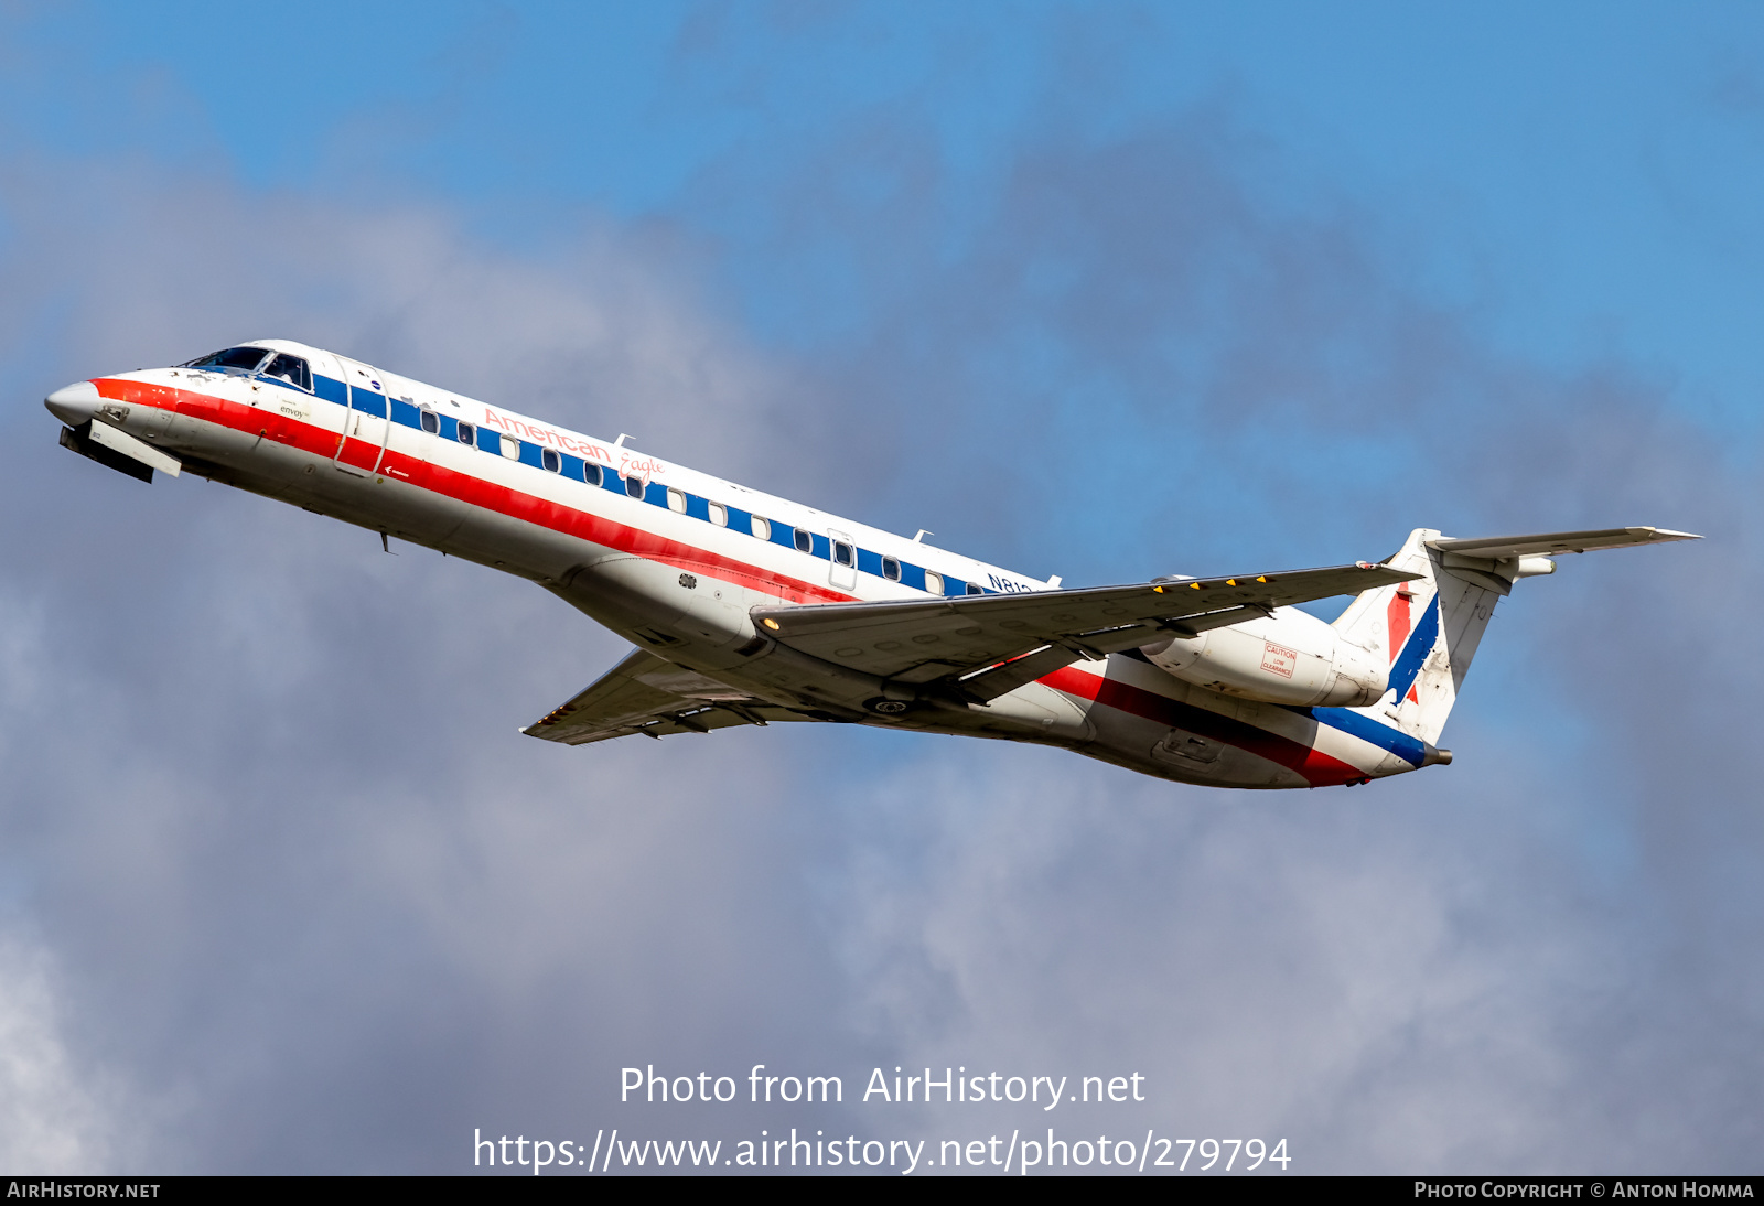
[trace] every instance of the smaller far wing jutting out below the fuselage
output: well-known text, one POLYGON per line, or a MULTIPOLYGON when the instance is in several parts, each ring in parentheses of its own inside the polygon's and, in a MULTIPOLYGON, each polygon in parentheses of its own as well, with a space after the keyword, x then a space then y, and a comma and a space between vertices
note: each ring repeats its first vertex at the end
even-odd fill
POLYGON ((806 719, 815 718, 743 695, 714 679, 633 649, 598 682, 520 732, 566 746, 586 746, 633 733, 669 737, 707 733, 734 725, 806 719))

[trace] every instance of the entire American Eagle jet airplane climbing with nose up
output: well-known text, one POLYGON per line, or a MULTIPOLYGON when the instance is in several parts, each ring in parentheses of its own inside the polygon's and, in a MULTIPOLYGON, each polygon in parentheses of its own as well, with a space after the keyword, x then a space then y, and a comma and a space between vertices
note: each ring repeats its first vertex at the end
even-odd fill
POLYGON ((1660 527, 1379 562, 1064 587, 289 340, 44 398, 60 443, 519 575, 635 649, 520 732, 582 746, 843 721, 1058 746, 1226 788, 1364 785, 1438 746, 1482 633, 1561 554, 1660 527), (1298 603, 1353 596, 1334 622, 1298 603))

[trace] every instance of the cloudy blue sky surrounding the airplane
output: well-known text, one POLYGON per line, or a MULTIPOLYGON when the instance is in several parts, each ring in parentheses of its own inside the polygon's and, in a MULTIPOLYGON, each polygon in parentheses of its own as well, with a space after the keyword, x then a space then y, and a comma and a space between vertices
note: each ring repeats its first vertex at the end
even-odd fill
POLYGON ((1753 5, 7 7, 0 1162, 1041 1060, 1307 1171, 1755 1171, 1760 143, 1753 5), (268 333, 1074 584, 1709 540, 1522 584, 1457 762, 1353 793, 536 751, 621 656, 549 596, 55 448, 268 333))

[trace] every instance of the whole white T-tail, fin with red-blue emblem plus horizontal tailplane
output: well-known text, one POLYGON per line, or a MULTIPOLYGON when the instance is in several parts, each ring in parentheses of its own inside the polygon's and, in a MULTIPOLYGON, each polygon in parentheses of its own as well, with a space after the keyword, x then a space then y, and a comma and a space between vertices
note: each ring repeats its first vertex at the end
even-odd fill
POLYGON ((1561 554, 1667 540, 1699 538, 1663 527, 1611 527, 1448 540, 1431 527, 1416 527, 1383 564, 1422 577, 1355 596, 1335 621, 1344 640, 1378 651, 1390 665, 1383 698, 1355 711, 1438 744, 1494 605, 1512 592, 1514 582, 1554 573, 1551 557, 1561 554))

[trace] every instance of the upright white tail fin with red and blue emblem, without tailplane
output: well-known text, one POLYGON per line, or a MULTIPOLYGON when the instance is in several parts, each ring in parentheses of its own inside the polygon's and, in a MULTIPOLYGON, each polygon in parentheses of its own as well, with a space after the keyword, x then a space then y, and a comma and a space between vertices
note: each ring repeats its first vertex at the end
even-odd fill
POLYGON ((1438 540, 1431 527, 1409 532, 1383 564, 1422 577, 1357 596, 1335 621, 1344 640, 1390 666, 1383 698, 1360 711, 1429 744, 1439 741, 1494 605, 1512 589, 1505 562, 1438 552, 1429 547, 1438 540))

